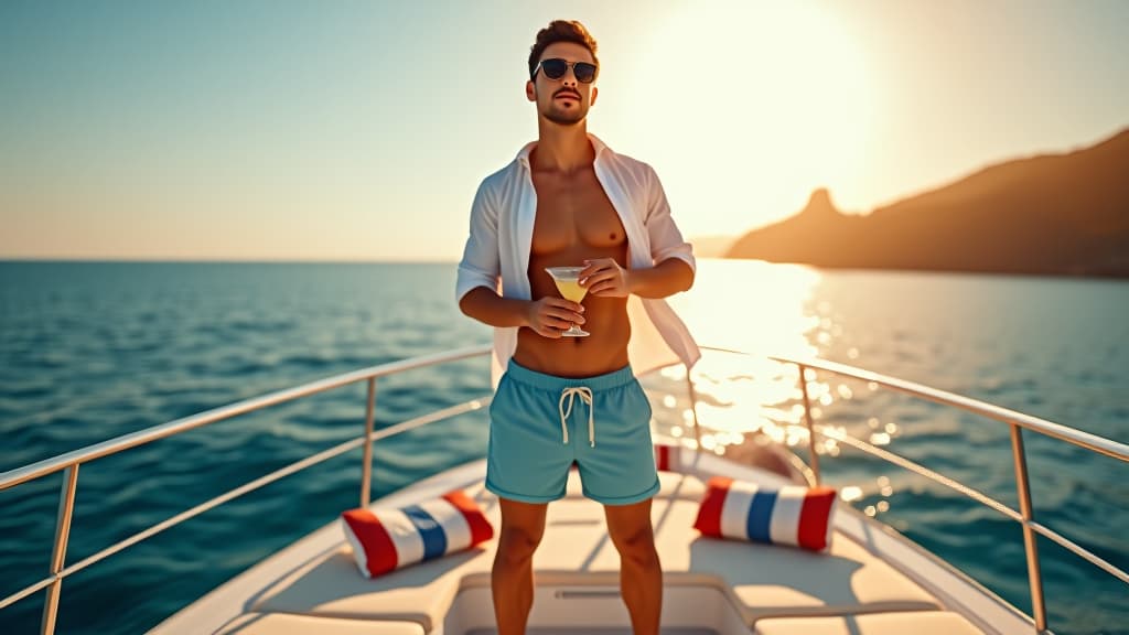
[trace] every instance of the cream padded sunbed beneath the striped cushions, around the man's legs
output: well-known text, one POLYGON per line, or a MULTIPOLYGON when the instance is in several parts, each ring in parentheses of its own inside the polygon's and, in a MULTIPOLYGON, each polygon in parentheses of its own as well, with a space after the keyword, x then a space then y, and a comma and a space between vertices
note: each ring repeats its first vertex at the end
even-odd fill
MULTIPOLYGON (((863 547, 837 533, 830 554, 791 547, 701 538, 689 529, 706 487, 693 476, 662 472, 651 506, 656 542, 667 581, 725 589, 752 626, 773 617, 813 617, 876 611, 937 610, 939 603, 863 547)), ((549 506, 549 530, 534 555, 539 582, 614 581, 619 554, 605 531, 603 507, 579 494, 549 506)), ((498 499, 478 484, 467 494, 500 527, 498 499)), ((489 580, 497 539, 479 548, 366 580, 341 543, 264 589, 247 607, 344 619, 405 620, 430 632, 443 624, 458 591, 489 580), (484 575, 483 575, 484 574, 484 575)), ((595 582, 589 582, 595 583, 595 582)), ((613 582, 614 583, 614 582, 613 582)))

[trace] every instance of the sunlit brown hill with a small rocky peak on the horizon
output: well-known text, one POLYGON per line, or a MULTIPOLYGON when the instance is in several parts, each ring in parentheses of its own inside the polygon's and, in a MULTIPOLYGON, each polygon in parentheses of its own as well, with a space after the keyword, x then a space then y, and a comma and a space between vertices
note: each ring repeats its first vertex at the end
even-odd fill
POLYGON ((1129 277, 1129 130, 1093 147, 989 166, 869 215, 826 190, 727 258, 829 268, 1129 277))

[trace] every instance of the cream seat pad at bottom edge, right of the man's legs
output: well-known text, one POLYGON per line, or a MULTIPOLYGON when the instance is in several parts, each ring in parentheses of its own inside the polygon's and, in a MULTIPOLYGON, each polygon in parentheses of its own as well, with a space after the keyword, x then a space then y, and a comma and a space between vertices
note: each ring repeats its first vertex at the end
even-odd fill
POLYGON ((844 617, 764 619, 753 635, 981 635, 961 615, 947 611, 887 612, 844 617))

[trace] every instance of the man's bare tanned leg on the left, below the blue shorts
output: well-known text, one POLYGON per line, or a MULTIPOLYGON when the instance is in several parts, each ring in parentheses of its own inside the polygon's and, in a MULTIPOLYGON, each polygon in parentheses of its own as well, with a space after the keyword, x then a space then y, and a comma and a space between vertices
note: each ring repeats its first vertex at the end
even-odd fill
POLYGON ((533 608, 533 553, 545 532, 548 503, 499 498, 501 532, 490 576, 498 635, 523 635, 533 608))

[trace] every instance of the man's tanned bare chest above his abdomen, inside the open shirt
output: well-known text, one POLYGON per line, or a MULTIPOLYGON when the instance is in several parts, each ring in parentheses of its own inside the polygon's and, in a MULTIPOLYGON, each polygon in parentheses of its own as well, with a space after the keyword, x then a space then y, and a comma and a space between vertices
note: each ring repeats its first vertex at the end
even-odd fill
POLYGON ((594 173, 572 180, 536 179, 533 253, 604 250, 625 242, 623 223, 594 173))

